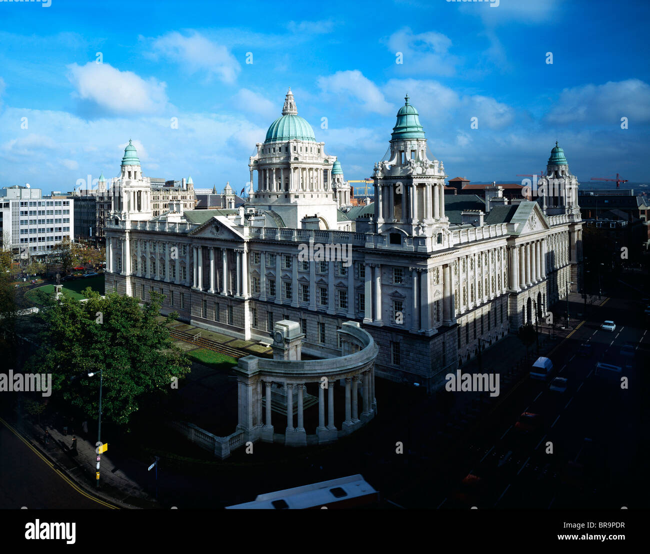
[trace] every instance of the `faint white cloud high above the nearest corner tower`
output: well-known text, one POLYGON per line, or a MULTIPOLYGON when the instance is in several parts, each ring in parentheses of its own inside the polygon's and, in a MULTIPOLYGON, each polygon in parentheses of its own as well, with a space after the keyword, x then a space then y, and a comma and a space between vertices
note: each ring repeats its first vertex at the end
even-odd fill
POLYGON ((448 53, 451 40, 435 31, 414 34, 405 27, 385 40, 389 50, 395 55, 402 53, 402 64, 395 64, 400 73, 417 75, 454 75, 459 58, 448 53))

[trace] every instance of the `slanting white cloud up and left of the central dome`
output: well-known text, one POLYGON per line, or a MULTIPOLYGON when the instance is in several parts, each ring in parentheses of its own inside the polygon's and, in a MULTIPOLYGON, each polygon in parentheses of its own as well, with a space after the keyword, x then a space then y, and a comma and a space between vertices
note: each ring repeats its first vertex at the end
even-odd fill
POLYGON ((216 77, 232 83, 237 79, 241 66, 229 49, 194 31, 190 36, 169 32, 159 36, 151 44, 151 55, 162 56, 181 65, 188 73, 203 71, 208 78, 216 77))

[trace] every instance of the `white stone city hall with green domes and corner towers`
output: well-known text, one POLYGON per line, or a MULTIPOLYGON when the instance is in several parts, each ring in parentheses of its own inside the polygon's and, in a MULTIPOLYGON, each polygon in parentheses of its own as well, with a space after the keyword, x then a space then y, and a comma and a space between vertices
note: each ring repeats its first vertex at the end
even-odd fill
POLYGON ((479 343, 546 320, 581 286, 578 181, 557 144, 532 195, 445 194, 407 96, 374 164, 374 202, 352 207, 339 159, 289 90, 249 168, 242 207, 170 203, 154 217, 138 157, 125 153, 107 292, 162 292, 163 312, 243 339, 272 342, 275 323, 297 321, 303 351, 321 358, 340 355, 337 330, 356 321, 378 346, 376 375, 432 391, 479 343))

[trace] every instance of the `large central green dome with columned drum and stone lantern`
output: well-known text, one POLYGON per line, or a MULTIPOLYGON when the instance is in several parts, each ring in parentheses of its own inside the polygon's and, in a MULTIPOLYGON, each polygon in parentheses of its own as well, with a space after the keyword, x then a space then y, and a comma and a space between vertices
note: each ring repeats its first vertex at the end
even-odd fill
POLYGON ((298 116, 289 88, 282 115, 250 157, 249 205, 275 212, 291 229, 312 228, 315 221, 319 229, 336 229, 336 162, 335 156, 325 153, 325 143, 316 142, 307 120, 298 116))

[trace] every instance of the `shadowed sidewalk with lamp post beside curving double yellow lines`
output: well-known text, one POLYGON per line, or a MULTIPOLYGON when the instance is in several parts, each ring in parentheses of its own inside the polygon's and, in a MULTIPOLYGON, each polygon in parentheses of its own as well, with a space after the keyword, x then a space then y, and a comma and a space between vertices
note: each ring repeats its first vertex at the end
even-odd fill
MULTIPOLYGON (((14 414, 15 415, 15 414, 14 414)), ((66 474, 72 481, 83 488, 92 496, 99 497, 109 503, 125 509, 155 508, 157 503, 144 489, 133 479, 130 479, 125 471, 126 468, 118 468, 112 462, 109 451, 101 455, 101 481, 99 488, 96 488, 97 454, 96 446, 88 433, 84 436, 81 425, 75 428, 75 434, 68 431, 64 435, 54 427, 46 425, 44 421, 40 425, 23 418, 21 422, 14 418, 12 425, 19 433, 28 440, 55 464, 55 467, 66 474), (45 429, 49 431, 48 444, 44 442, 45 429), (77 453, 73 453, 72 437, 77 437, 77 453)), ((90 429, 89 429, 90 431, 90 429)))

